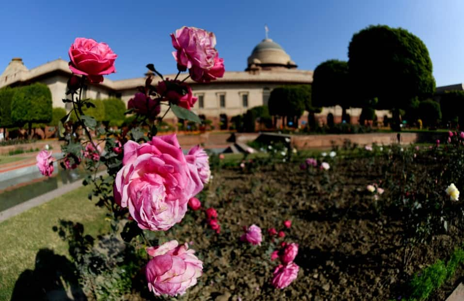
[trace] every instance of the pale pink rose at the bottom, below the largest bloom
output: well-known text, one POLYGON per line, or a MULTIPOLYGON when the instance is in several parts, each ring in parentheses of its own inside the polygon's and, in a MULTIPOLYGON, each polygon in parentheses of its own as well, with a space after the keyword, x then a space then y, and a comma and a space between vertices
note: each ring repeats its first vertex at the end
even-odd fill
POLYGON ((145 268, 148 289, 156 296, 183 295, 187 288, 202 275, 203 262, 189 250, 187 243, 180 245, 171 240, 158 247, 146 249, 153 258, 145 268))

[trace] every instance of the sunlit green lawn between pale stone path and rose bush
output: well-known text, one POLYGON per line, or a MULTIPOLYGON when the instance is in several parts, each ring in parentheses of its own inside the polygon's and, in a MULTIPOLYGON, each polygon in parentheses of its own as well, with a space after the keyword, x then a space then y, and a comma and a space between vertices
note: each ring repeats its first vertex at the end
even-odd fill
POLYGON ((34 269, 40 249, 70 258, 67 243, 52 230, 59 219, 82 223, 86 234, 109 231, 107 211, 87 199, 89 191, 90 186, 81 187, 0 223, 0 300, 11 299, 18 276, 34 269))

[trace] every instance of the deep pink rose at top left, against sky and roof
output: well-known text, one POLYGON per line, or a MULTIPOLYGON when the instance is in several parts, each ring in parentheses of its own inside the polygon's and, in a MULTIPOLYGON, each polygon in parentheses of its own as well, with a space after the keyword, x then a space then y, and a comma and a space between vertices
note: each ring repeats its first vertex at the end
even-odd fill
POLYGON ((69 69, 75 74, 87 75, 92 83, 101 83, 102 75, 116 72, 114 60, 118 56, 106 43, 76 38, 68 54, 69 69))

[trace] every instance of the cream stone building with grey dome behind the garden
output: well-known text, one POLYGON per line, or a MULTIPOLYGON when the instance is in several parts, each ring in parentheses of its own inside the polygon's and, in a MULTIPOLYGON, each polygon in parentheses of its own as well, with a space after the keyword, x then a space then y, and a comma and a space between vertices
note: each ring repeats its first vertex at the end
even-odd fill
MULTIPOLYGON (((53 107, 65 107, 66 83, 71 75, 68 62, 57 59, 39 67, 28 69, 22 59, 14 58, 0 76, 0 88, 40 82, 47 84, 52 94, 53 107)), ((175 78, 175 74, 165 78, 175 78)), ((154 78, 154 82, 157 78, 154 78)), ((249 108, 266 105, 273 88, 289 84, 311 84, 313 71, 297 69, 297 65, 283 48, 272 41, 264 39, 253 49, 247 59, 245 71, 226 71, 223 78, 208 84, 199 84, 188 79, 194 96, 198 97, 192 111, 211 119, 216 126, 227 124, 231 117, 245 113, 249 108)), ((89 84, 84 87, 83 97, 91 99, 120 98, 126 104, 143 86, 145 77, 112 81, 105 78, 100 84, 89 84)), ((164 106, 162 110, 165 109, 164 106)), ((163 112, 161 112, 163 113, 163 112)), ((341 120, 341 108, 323 108, 317 117, 324 122, 327 114, 332 113, 335 120, 341 120)), ((360 109, 350 109, 348 113, 352 121, 357 121, 360 109)), ((388 112, 377 112, 379 117, 388 112)), ((176 123, 175 116, 169 112, 166 120, 176 123)))

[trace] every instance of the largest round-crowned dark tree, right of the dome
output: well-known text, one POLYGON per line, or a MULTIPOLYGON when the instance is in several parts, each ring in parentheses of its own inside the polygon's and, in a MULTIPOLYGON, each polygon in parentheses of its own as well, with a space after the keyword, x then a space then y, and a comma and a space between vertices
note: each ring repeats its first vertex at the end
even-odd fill
POLYGON ((426 99, 435 92, 429 51, 407 30, 369 26, 353 35, 348 57, 357 96, 377 97, 376 108, 392 110, 396 130, 400 129, 400 109, 416 97, 426 99))

